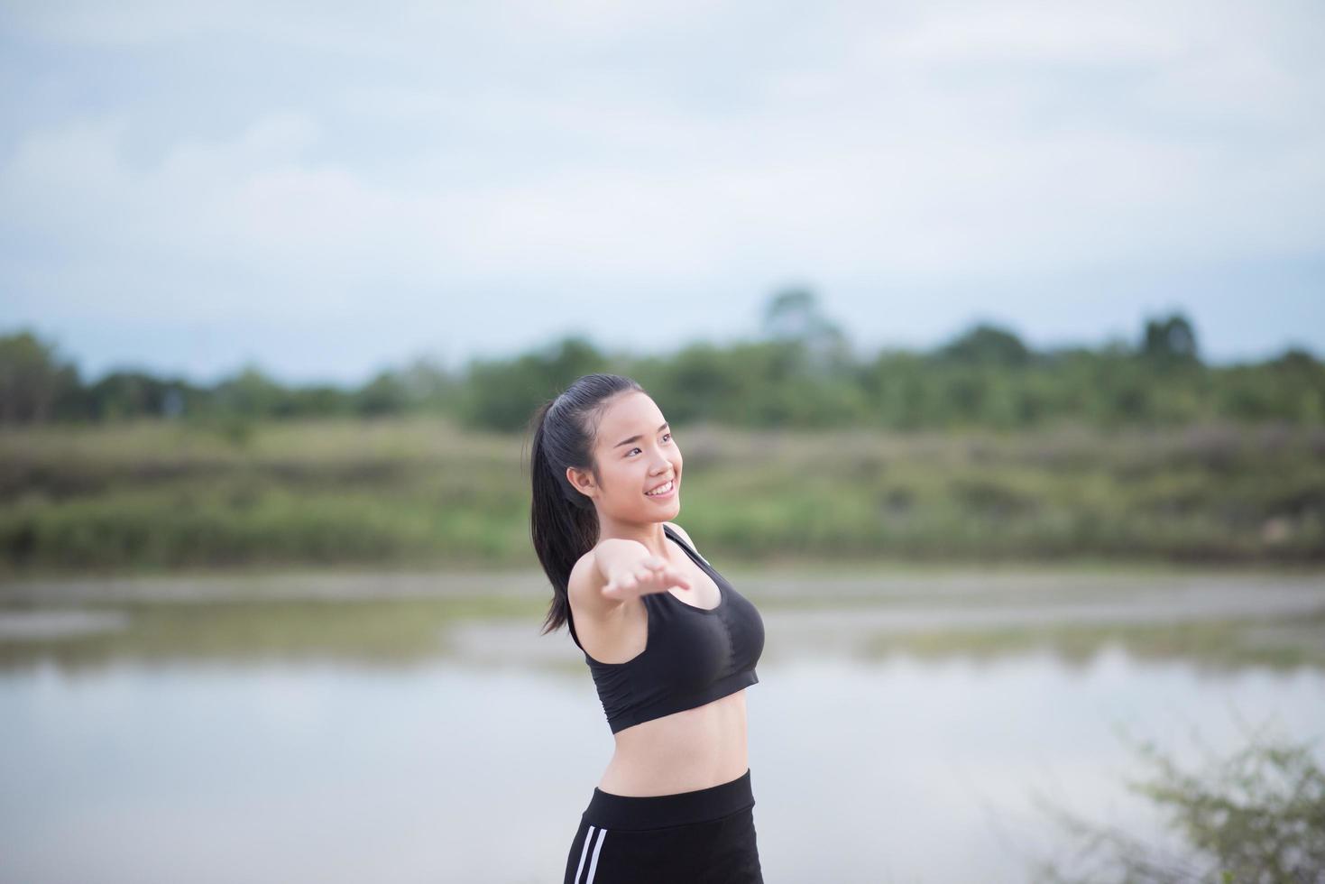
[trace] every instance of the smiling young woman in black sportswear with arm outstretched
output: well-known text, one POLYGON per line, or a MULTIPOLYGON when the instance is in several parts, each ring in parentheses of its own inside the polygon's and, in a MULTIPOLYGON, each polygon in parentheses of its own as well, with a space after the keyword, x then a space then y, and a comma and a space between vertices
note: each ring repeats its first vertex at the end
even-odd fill
POLYGON ((533 419, 530 531, 543 634, 584 652, 616 741, 566 884, 762 884, 745 689, 763 620, 669 520, 681 449, 629 378, 579 378, 533 419))

